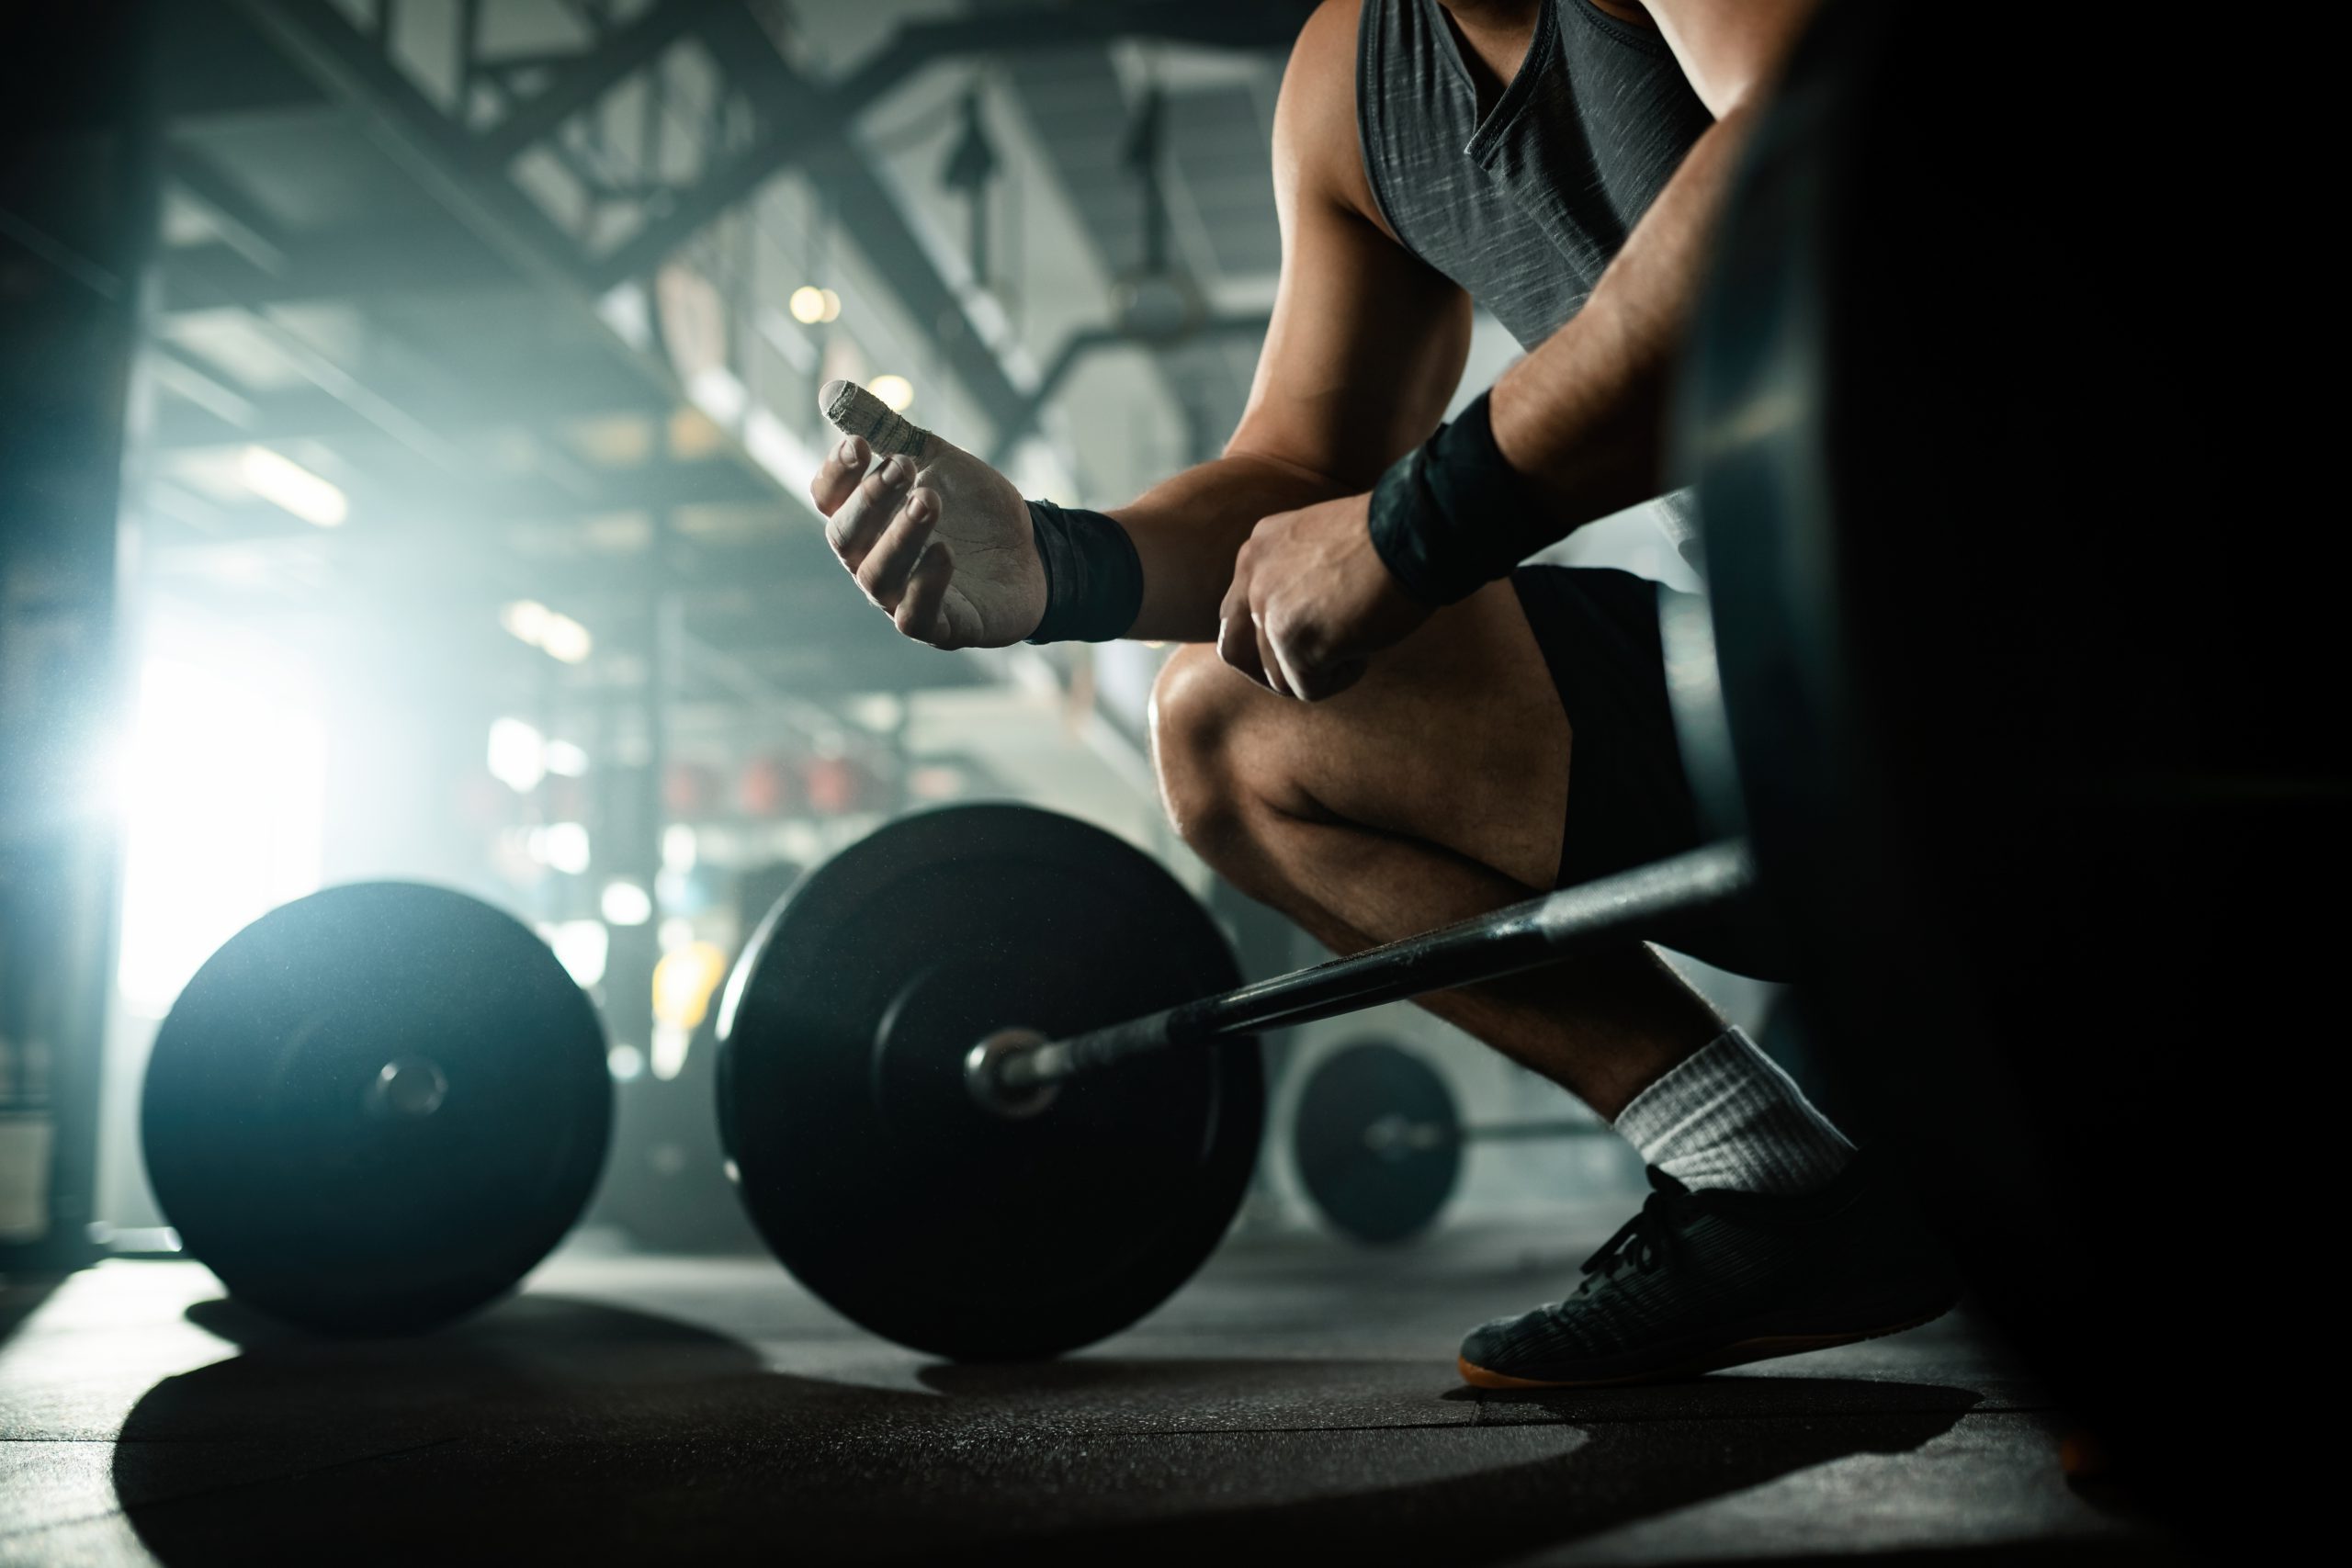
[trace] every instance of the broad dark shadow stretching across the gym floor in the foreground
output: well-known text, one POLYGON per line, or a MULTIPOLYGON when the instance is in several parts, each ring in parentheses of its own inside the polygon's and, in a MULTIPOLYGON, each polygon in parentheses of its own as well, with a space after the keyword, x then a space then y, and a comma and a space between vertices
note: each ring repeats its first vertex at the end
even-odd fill
POLYGON ((1082 1356, 856 1387, 769 1371, 675 1319, 543 1295, 414 1340, 315 1340, 221 1302, 191 1316, 242 1354, 155 1385, 113 1462, 132 1526, 174 1566, 1501 1561, 1912 1450, 1976 1399, 1757 1378, 1722 1389, 1717 1418, 1653 1389, 1653 1420, 1625 1406, 1470 1425, 1432 1368, 1423 1425, 1150 1429, 1122 1413, 1164 1427, 1223 1401, 1247 1420, 1254 1389, 1296 1401, 1319 1380, 1334 1401, 1376 1380, 1395 1406, 1395 1366, 1082 1356))

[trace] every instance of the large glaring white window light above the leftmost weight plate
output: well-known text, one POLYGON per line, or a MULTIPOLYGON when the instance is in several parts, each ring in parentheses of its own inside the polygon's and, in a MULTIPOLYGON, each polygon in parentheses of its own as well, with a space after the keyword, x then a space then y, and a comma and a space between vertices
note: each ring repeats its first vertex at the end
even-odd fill
POLYGON ((151 658, 125 750, 122 1004, 162 1018, 247 922, 318 891, 327 736, 315 693, 151 658))

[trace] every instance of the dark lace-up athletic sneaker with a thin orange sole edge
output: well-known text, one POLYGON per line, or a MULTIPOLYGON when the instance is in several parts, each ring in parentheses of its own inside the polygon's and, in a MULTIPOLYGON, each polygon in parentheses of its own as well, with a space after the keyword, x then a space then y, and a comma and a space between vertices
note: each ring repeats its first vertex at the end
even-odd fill
POLYGON ((1691 1192, 1656 1166, 1642 1213, 1585 1260, 1564 1302, 1482 1324, 1463 1380, 1573 1389, 1875 1340, 1959 1295, 1943 1248, 1877 1161, 1802 1197, 1691 1192))

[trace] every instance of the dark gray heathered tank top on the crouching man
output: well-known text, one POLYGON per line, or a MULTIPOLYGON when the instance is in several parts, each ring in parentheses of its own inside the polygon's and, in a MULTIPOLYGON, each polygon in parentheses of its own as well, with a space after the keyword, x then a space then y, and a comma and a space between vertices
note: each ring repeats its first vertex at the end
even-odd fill
POLYGON ((1534 348, 1576 315, 1715 122, 1651 28, 1545 0, 1510 87, 1477 87, 1437 0, 1364 0, 1364 174, 1409 252, 1534 348))

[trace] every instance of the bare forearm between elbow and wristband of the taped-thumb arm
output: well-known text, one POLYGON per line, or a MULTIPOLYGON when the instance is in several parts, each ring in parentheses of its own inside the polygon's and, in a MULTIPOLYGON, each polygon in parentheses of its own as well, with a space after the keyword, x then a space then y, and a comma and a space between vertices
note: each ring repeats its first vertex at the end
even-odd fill
POLYGON ((1230 451, 1162 480, 1110 512, 1143 557, 1143 609, 1129 637, 1211 642, 1232 557, 1261 517, 1348 494, 1341 480, 1230 451))

